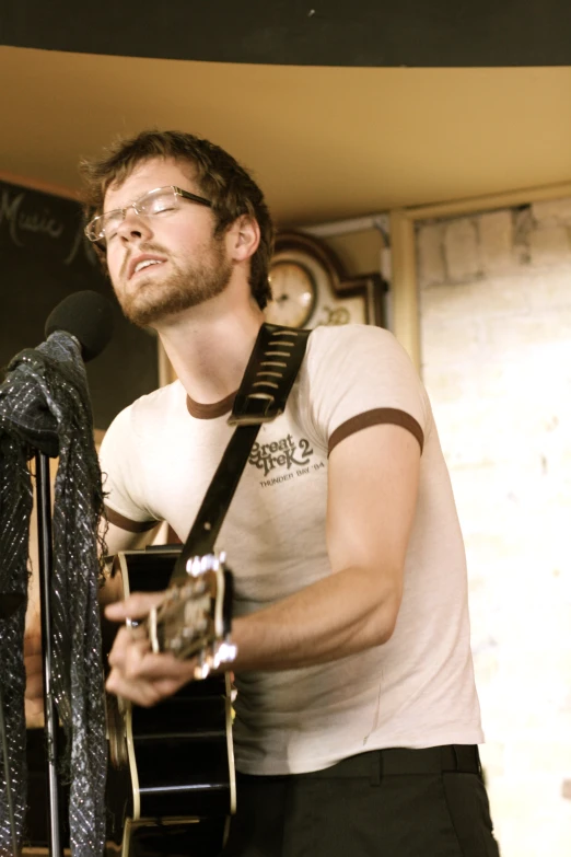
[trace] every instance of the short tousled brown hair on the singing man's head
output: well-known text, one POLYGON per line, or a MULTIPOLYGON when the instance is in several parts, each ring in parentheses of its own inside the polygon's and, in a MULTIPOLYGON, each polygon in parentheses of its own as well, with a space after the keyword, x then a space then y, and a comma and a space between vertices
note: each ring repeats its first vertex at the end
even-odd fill
MULTIPOLYGON (((84 210, 88 219, 101 215, 109 185, 121 184, 141 162, 151 158, 174 158, 194 167, 199 192, 212 202, 215 234, 223 233, 241 215, 257 220, 259 246, 252 257, 249 286, 263 310, 271 299, 268 268, 273 250, 273 224, 264 194, 247 171, 219 146, 184 131, 141 131, 114 142, 100 160, 85 160, 80 171, 85 181, 84 210)), ((96 247, 104 259, 104 251, 96 247)))

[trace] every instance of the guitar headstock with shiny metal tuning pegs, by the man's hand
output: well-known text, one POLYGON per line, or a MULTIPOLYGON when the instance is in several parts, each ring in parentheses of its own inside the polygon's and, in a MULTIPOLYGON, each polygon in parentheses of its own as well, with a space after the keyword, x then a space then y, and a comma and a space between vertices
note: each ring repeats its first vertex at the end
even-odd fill
POLYGON ((223 553, 189 559, 188 580, 167 589, 147 621, 154 652, 171 652, 182 660, 198 658, 195 679, 206 679, 212 669, 236 657, 230 639, 232 572, 224 561, 223 553))

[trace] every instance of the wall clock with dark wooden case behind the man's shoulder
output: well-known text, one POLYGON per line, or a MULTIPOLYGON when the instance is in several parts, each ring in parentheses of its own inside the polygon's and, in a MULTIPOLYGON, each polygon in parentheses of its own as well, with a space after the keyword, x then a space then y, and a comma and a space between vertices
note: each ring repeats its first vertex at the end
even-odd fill
POLYGON ((386 283, 381 275, 349 277, 330 247, 312 235, 279 233, 269 278, 273 299, 265 314, 270 324, 383 326, 386 283))

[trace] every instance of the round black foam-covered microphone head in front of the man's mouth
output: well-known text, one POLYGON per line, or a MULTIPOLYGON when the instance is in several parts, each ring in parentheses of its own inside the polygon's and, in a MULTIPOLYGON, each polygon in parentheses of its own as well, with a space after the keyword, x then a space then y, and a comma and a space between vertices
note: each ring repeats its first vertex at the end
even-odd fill
POLYGON ((113 336, 113 308, 107 298, 92 289, 68 294, 50 312, 44 328, 46 339, 63 331, 80 344, 81 356, 88 362, 97 357, 113 336))

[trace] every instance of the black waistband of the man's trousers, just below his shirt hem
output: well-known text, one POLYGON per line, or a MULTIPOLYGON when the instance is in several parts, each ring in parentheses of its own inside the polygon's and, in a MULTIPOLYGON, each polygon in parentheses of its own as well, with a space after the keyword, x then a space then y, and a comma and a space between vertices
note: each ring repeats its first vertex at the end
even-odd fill
POLYGON ((382 777, 406 774, 481 774, 480 756, 476 744, 446 744, 421 750, 388 748, 370 750, 349 756, 324 771, 304 774, 306 777, 382 777))

